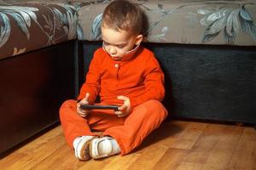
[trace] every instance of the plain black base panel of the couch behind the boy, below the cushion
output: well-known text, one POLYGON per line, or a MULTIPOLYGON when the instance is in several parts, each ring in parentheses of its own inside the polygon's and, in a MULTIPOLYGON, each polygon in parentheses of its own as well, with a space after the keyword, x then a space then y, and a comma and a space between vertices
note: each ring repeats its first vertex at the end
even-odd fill
MULTIPOLYGON (((84 74, 101 42, 83 42, 84 74)), ((144 43, 166 76, 168 119, 256 123, 256 49, 144 43)), ((84 79, 83 79, 84 80, 84 79)), ((83 81, 81 81, 83 82, 83 81)))

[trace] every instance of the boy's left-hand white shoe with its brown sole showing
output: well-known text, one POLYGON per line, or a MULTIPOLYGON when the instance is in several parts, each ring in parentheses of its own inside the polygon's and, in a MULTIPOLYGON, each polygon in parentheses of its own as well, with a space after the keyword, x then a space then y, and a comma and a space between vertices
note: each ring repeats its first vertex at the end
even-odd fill
POLYGON ((73 149, 76 158, 81 161, 90 160, 90 140, 96 138, 95 136, 81 136, 73 140, 73 149))

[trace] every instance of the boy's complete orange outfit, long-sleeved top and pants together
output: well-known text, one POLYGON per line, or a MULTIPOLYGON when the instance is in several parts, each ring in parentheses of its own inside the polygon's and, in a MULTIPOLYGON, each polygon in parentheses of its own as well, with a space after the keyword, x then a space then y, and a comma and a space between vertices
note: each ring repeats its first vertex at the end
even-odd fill
POLYGON ((128 116, 118 117, 113 111, 91 111, 83 118, 77 114, 76 100, 67 100, 61 105, 60 117, 67 143, 79 136, 96 135, 91 130, 103 132, 117 140, 121 155, 125 155, 148 136, 166 118, 167 111, 160 103, 165 96, 164 74, 154 54, 140 47, 135 54, 113 60, 99 48, 91 59, 79 99, 89 93, 89 103, 98 105, 123 105, 118 96, 130 99, 128 116))

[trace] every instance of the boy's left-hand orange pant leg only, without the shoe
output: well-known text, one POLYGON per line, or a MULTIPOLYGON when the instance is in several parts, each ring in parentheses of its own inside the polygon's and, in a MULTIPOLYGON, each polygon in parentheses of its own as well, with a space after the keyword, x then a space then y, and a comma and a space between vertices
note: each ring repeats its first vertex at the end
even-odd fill
POLYGON ((60 119, 67 144, 73 148, 74 139, 80 136, 96 136, 96 133, 92 133, 90 129, 105 131, 108 127, 124 123, 124 119, 108 112, 111 111, 90 112, 88 117, 83 118, 77 113, 76 100, 65 101, 61 105, 60 119))

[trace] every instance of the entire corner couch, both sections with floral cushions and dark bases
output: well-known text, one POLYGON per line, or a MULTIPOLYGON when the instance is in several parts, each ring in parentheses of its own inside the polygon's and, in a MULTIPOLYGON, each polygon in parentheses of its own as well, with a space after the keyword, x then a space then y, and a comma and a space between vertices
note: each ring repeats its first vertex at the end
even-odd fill
MULTIPOLYGON (((102 46, 108 0, 0 1, 0 153, 58 122, 102 46)), ((255 1, 133 0, 173 117, 256 123, 255 1)))

